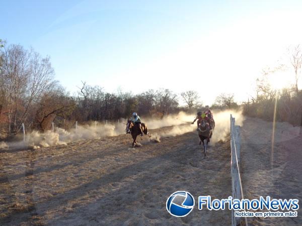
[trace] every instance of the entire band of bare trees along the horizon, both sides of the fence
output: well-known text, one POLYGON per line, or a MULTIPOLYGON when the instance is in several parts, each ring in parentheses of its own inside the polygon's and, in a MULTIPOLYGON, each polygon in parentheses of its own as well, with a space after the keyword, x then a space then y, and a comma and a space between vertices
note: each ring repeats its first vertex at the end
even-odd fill
MULTIPOLYGON (((243 112, 250 117, 272 120, 275 100, 276 119, 293 125, 302 122, 302 93, 298 89, 302 51, 300 46, 291 48, 289 65, 292 67, 295 84, 292 87, 274 89, 268 74, 283 70, 278 65, 263 70, 257 79, 257 89, 243 102, 243 112)), ((79 81, 81 82, 81 81, 79 81)), ((198 93, 187 90, 178 95, 170 89, 147 90, 142 93, 106 92, 101 86, 91 86, 82 81, 78 93, 70 95, 54 79, 54 70, 48 56, 42 57, 32 48, 21 45, 6 45, 0 40, 0 138, 14 136, 25 124, 27 129, 49 130, 56 126, 68 129, 75 121, 118 120, 128 118, 133 111, 142 116, 161 119, 169 114, 185 110, 195 113, 203 106, 198 93), (180 106, 180 101, 185 106, 180 106)), ((221 93, 211 108, 238 108, 234 94, 221 93)))

